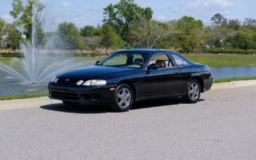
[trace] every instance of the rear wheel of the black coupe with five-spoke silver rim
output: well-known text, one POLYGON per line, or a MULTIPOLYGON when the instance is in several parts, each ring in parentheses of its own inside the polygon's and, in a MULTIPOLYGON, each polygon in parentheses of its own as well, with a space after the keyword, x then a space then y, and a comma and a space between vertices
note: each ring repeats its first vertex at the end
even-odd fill
POLYGON ((182 98, 187 103, 196 103, 200 98, 200 95, 201 95, 200 83, 196 79, 193 79, 188 83, 186 95, 183 96, 182 98))

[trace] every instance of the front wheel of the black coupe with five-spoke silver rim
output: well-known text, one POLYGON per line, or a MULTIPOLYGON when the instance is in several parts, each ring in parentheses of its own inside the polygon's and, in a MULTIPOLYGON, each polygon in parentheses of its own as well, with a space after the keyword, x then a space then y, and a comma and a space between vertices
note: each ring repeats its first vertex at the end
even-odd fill
POLYGON ((120 84, 115 91, 111 109, 114 111, 129 111, 133 103, 132 88, 127 84, 120 84))

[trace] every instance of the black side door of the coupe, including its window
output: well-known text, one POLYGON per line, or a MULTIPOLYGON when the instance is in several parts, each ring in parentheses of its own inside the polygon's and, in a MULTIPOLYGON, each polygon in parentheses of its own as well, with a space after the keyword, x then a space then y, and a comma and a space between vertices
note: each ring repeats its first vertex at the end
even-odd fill
POLYGON ((179 68, 175 68, 168 54, 164 53, 154 55, 148 65, 159 62, 161 65, 159 68, 145 72, 141 78, 143 81, 141 85, 143 95, 150 96, 179 93, 181 85, 179 68), (166 63, 165 65, 163 61, 166 63))

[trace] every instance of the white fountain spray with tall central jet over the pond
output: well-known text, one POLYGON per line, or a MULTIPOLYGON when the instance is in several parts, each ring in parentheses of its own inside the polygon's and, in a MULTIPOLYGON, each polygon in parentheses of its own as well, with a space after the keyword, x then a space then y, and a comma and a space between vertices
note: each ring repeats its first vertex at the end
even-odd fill
POLYGON ((20 45, 24 58, 13 58, 10 65, 0 63, 0 69, 10 74, 8 78, 19 79, 20 84, 46 84, 52 77, 61 72, 85 65, 83 62, 76 63, 74 60, 60 60, 61 57, 50 58, 49 52, 51 50, 49 48, 52 49, 54 40, 58 38, 54 37, 48 40, 44 46, 38 45, 36 27, 41 25, 42 28, 42 24, 38 19, 38 12, 34 8, 32 42, 20 45), (17 66, 19 66, 18 69, 17 66))

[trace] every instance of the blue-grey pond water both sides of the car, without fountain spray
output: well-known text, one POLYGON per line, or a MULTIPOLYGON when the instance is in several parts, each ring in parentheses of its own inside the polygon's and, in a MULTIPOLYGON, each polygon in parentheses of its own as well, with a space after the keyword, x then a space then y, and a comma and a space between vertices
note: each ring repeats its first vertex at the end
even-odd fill
MULTIPOLYGON (((210 67, 214 79, 225 77, 256 76, 256 66, 253 67, 210 67)), ((0 96, 18 95, 24 93, 47 92, 47 85, 26 86, 18 84, 16 79, 8 79, 6 72, 0 71, 0 96)))

